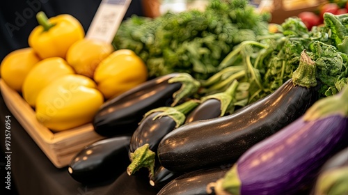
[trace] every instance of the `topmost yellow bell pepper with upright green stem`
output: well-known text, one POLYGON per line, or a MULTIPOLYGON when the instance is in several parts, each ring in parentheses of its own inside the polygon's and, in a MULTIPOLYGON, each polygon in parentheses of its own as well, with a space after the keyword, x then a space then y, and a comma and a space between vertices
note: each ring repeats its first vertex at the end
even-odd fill
POLYGON ((57 15, 47 19, 45 13, 36 15, 38 23, 29 35, 29 46, 41 59, 61 57, 65 59, 69 47, 84 38, 84 28, 72 15, 57 15))

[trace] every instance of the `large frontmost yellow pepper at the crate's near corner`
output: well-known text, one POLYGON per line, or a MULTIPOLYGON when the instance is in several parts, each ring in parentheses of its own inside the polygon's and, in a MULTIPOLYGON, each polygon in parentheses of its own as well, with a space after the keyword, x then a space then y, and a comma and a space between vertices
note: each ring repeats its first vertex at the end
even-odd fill
POLYGON ((69 130, 90 123, 103 102, 95 81, 83 75, 65 75, 42 89, 35 114, 50 130, 69 130))

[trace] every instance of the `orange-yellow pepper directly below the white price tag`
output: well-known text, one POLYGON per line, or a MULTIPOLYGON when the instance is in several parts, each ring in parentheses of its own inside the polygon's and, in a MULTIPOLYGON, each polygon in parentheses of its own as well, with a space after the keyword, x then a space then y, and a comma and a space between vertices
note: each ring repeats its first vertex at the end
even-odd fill
POLYGON ((79 75, 93 79, 97 65, 113 52, 109 42, 93 39, 83 39, 74 42, 68 49, 66 61, 79 75))

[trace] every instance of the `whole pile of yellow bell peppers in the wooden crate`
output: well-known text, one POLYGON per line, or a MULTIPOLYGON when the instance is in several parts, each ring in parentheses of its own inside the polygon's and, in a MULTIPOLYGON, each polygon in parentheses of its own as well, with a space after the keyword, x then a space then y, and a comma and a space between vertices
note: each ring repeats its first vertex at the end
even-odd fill
POLYGON ((1 79, 35 109, 36 118, 53 132, 93 120, 103 102, 148 79, 148 69, 128 49, 85 38, 72 15, 36 15, 29 47, 8 54, 1 79))

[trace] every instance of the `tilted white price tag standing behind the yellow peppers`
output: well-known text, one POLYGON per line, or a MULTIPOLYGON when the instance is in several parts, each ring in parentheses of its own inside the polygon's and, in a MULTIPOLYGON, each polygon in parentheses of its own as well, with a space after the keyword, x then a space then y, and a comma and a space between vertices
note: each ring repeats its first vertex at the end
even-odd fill
POLYGON ((112 42, 132 0, 102 0, 86 38, 112 42))

